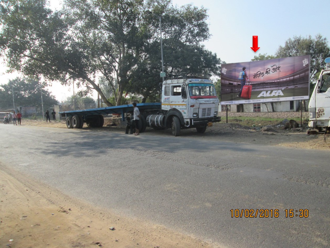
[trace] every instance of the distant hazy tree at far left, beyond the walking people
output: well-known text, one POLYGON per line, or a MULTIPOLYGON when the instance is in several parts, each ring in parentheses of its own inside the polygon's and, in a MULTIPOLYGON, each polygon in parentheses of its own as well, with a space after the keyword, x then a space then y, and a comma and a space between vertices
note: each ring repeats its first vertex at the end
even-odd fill
POLYGON ((7 84, 0 86, 0 106, 1 108, 12 108, 13 106, 13 92, 15 107, 30 107, 36 106, 37 108, 44 106, 57 105, 58 102, 45 88, 45 82, 39 82, 34 79, 15 78, 9 80, 7 84), (43 94, 43 101, 41 102, 41 91, 43 94))

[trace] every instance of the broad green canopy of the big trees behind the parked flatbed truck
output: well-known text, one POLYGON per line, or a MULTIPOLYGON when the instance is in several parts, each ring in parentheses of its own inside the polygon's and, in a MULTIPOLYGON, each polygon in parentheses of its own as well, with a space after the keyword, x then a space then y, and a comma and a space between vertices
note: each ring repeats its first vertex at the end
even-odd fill
POLYGON ((100 77, 117 105, 124 91, 152 98, 161 71, 159 17, 167 74, 219 74, 220 59, 201 44, 210 37, 207 10, 170 0, 67 0, 55 12, 46 0, 1 1, 1 55, 11 70, 75 82, 80 95, 96 90, 107 105, 100 77))

